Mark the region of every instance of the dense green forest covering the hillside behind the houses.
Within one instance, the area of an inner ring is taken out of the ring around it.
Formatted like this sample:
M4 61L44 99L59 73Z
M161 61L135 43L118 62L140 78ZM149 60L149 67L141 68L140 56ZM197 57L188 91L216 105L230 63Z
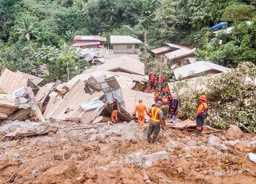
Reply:
M0 69L37 74L45 63L50 79L66 80L67 65L70 77L87 66L69 49L74 35L144 40L144 32L148 49L169 41L198 48L198 60L229 67L256 63L255 5L255 0L0 0ZM220 20L229 21L233 32L213 36L207 26Z

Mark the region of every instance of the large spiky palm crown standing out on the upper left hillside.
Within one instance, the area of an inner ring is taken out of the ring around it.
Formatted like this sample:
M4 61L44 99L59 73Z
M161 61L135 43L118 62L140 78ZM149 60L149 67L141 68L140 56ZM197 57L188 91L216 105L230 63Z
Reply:
M27 19L23 19L16 28L16 35L20 35L21 39L30 40L31 38L38 37L38 29L33 27L34 24L30 23Z

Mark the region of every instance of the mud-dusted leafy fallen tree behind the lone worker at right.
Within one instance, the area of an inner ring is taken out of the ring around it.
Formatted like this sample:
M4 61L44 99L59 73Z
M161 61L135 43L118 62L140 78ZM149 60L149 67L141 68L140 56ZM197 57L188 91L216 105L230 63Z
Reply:
M208 97L209 111L206 123L217 128L238 125L256 133L256 65L243 62L215 78L207 78L205 89L195 90L202 81L189 85L186 80L174 84L173 93L180 96L180 116L192 118L201 94Z

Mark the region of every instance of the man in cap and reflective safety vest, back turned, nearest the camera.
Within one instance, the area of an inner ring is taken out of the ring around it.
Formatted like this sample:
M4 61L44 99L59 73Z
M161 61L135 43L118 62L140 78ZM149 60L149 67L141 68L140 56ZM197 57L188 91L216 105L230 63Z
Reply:
M163 126L163 111L160 109L162 105L163 103L161 101L157 101L156 105L148 110L147 115L150 117L150 124L147 134L147 142L149 142L153 132L152 143L156 141L160 128L162 127L162 129L165 130L165 127Z

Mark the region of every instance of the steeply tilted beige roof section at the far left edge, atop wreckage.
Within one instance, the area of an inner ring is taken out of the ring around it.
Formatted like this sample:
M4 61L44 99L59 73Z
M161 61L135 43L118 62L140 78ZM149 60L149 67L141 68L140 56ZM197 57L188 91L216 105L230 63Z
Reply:
M0 76L0 94L10 94L20 87L27 86L27 79L22 74L5 69Z

